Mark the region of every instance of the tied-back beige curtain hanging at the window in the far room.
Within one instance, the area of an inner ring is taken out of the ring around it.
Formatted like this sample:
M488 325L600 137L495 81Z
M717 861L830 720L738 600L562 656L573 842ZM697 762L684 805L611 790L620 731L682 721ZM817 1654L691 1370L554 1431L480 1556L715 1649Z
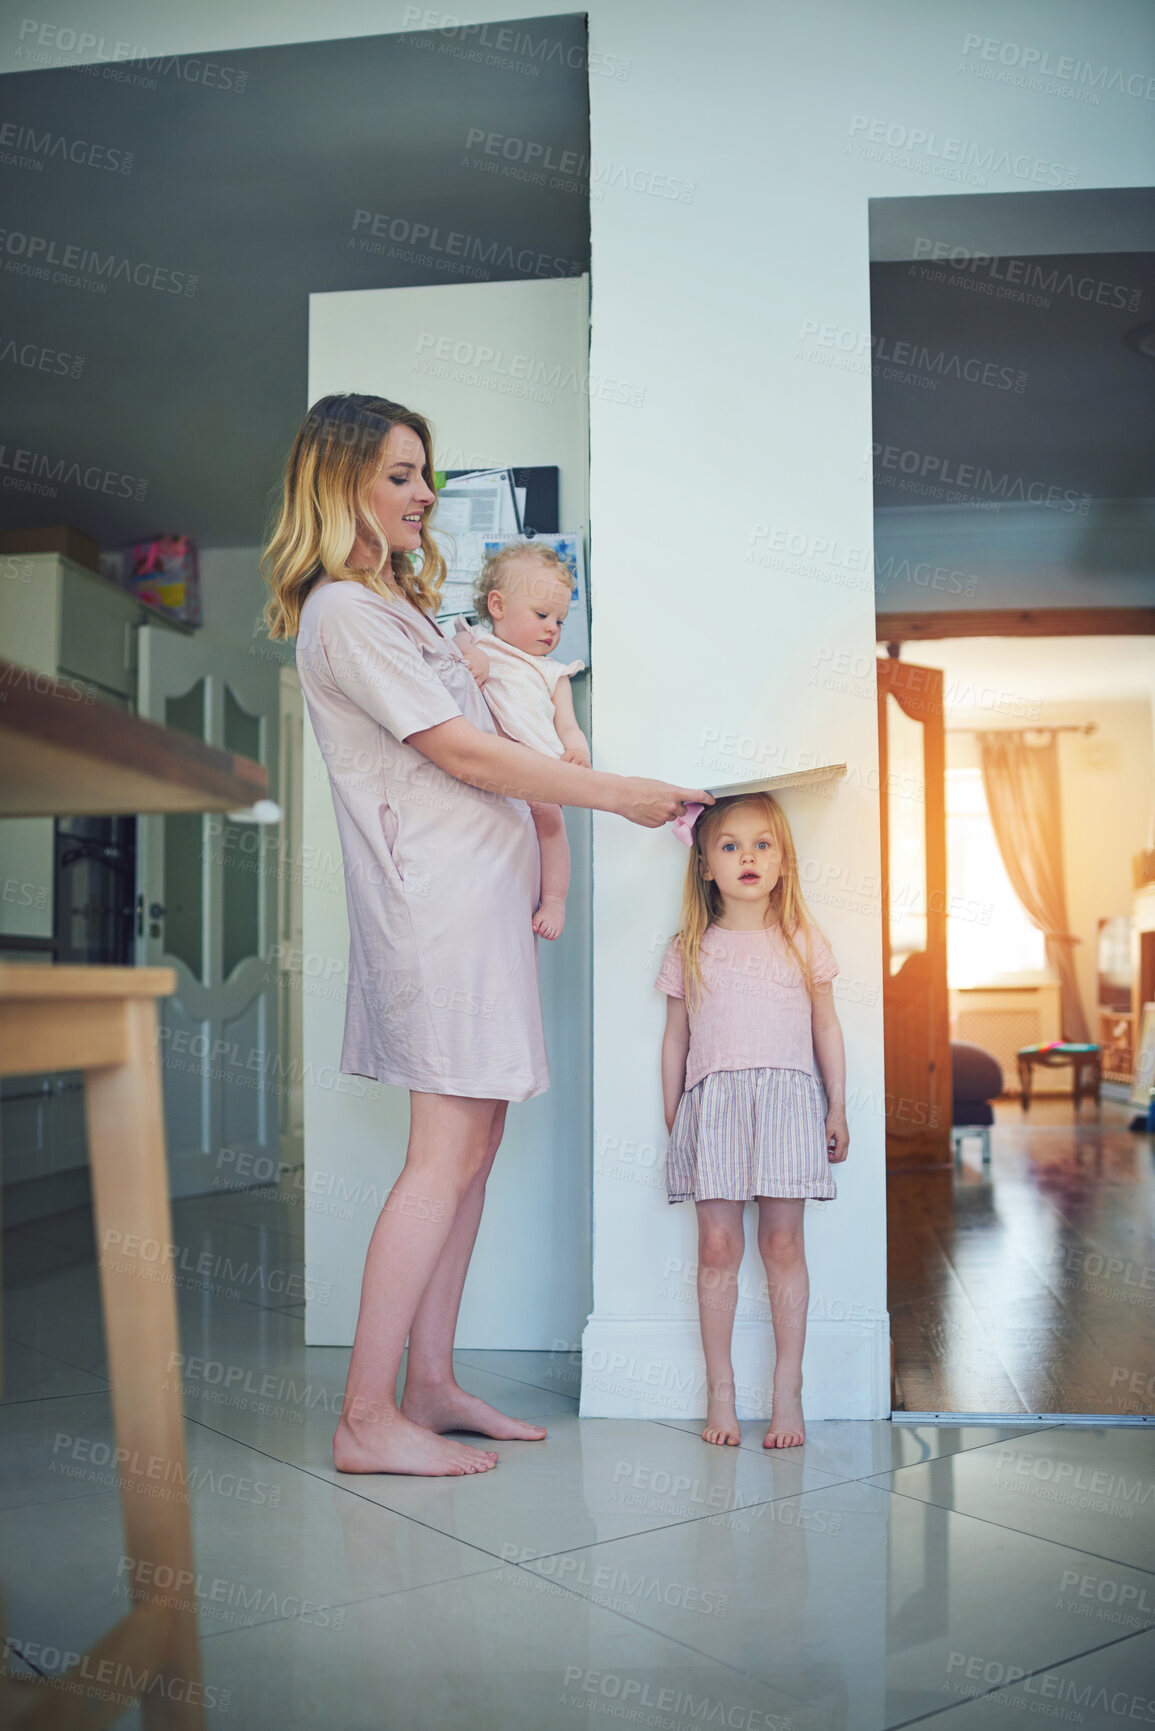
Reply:
M1020 732L978 734L982 784L994 838L1015 895L1046 940L1046 957L1058 975L1065 1040L1089 1040L1079 999L1074 947L1067 930L1063 836L1055 734L1029 746Z

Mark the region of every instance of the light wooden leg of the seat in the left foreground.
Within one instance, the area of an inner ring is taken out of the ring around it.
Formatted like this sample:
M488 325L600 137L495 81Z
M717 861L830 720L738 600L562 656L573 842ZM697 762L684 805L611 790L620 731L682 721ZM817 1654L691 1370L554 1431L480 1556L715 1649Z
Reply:
M121 1461L121 1580L137 1603L170 1615L168 1663L140 1702L147 1731L204 1731L156 1004L130 999L116 1013L128 1061L87 1071L85 1115Z

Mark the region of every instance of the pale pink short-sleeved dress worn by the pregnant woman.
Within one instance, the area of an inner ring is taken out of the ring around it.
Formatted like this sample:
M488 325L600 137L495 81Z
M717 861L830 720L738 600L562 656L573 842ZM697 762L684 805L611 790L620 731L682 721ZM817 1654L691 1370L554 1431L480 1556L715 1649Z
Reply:
M405 743L457 715L497 732L464 656L409 601L320 578L301 608L296 666L345 862L341 1071L426 1094L542 1094L530 808Z

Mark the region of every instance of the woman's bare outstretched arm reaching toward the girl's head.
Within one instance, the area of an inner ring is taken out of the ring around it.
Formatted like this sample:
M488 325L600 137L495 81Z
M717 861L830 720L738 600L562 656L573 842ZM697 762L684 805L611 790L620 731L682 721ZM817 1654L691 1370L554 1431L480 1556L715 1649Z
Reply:
M611 775L582 763L563 763L516 739L485 734L464 715L421 727L405 739L448 775L506 800L580 805L592 812L613 812L646 829L681 817L689 803L713 805L713 795L703 788L675 788L646 775Z

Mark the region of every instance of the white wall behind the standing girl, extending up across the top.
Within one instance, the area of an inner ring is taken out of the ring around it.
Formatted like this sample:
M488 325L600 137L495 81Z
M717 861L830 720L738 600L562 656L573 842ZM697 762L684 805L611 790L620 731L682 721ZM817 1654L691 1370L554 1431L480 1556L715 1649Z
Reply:
M476 0L468 10L474 23L537 19L540 36L551 7ZM843 1023L852 1087L878 1101L878 916L855 912L862 878L878 871L874 722L861 680L838 672L840 656L869 670L873 595L746 563L778 530L866 549L869 571L869 379L798 360L795 344L805 319L869 329L869 197L975 189L973 178L949 178L945 137L1008 152L1008 168L987 177L990 192L1039 189L1010 166L1020 152L1068 166L1079 187L1143 183L1150 104L1107 88L1091 106L978 76L999 73L997 47L985 61L971 38L1143 74L1155 61L1152 12L1145 0L1094 10L1086 0L1020 0L1013 10L999 0L933 9L925 0L731 0L708 12L668 0L587 0L585 10L599 192L592 369L644 393L634 409L590 403L594 746L606 767L679 779L703 774L698 756L713 734L750 739L753 755L786 767L807 755L850 762L835 801L805 812L798 803L798 829L802 852L835 874L817 912L843 980L864 999L874 994L871 1004L847 1002ZM100 28L161 54L305 42L319 29L435 28L445 17L397 0L331 0L324 19L282 0L242 10L201 0L165 16L149 0L106 0ZM87 0L61 0L54 19L92 29ZM16 29L0 47L7 68L26 64ZM887 159L885 145L857 154L864 130L855 118L933 135L939 156L933 145L907 158ZM667 189L684 182L687 197L663 197L653 177ZM693 1388L693 1310L670 1297L663 1272L693 1258L693 1220L667 1212L655 1186L618 1181L606 1167L615 1137L660 1141L661 1006L649 987L649 931L675 917L681 864L668 833L613 817L594 824L587 1412L668 1416L703 1404ZM861 1106L850 1130L840 1203L810 1222L821 1312L807 1354L812 1416L887 1411L881 1116ZM838 1321L847 1316L862 1321ZM755 1343L739 1376L750 1411L765 1380Z

